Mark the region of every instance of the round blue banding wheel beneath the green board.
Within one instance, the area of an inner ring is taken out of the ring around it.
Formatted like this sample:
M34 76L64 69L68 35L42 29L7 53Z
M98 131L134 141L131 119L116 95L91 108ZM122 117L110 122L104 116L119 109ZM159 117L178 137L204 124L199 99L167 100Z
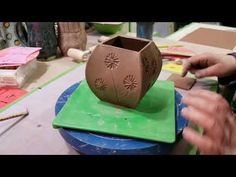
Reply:
M77 89L80 83L76 83L66 89L58 98L55 106L56 115L60 112L70 95ZM181 137L187 121L181 116L180 111L185 107L181 102L182 96L175 91L176 99L176 124L177 141ZM74 129L60 128L60 134L65 141L81 154L87 155L148 155L168 154L175 143L157 143L139 139L124 138L120 136L104 135Z

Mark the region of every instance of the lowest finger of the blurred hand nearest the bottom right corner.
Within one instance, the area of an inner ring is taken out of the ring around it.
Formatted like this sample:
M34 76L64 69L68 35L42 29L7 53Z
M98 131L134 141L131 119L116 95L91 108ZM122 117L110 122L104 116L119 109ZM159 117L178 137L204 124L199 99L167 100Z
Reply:
M209 137L202 136L191 128L183 130L183 138L196 146L204 154L220 154L220 147L217 146Z

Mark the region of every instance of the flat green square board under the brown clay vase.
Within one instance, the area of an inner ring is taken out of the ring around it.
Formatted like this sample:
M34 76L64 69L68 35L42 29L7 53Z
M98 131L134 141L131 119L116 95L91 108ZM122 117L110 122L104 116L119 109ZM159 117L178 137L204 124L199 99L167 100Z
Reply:
M130 109L99 100L83 80L54 119L53 127L173 143L174 84L157 80L136 109Z

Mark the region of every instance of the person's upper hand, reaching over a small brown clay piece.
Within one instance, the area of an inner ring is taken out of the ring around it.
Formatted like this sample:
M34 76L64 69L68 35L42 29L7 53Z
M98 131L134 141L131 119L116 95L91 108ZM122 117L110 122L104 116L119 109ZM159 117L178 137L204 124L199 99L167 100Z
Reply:
M195 74L197 78L230 76L236 73L236 60L231 55L204 53L184 62L182 76L185 76L188 71Z

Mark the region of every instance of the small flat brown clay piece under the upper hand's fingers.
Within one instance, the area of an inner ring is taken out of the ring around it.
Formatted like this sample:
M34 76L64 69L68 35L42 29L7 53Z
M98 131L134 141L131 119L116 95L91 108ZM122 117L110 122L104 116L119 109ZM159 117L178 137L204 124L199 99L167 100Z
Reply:
M191 89L193 85L196 83L196 79L189 78L189 77L181 77L178 74L171 74L167 80L173 81L175 84L175 87L184 89L184 90Z

